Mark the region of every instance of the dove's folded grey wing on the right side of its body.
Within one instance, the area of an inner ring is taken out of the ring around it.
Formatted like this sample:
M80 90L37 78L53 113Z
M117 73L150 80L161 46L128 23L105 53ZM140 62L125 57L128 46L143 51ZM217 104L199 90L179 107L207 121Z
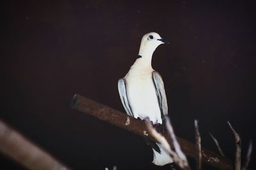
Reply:
M158 72L154 71L152 74L153 74L153 79L156 86L156 94L159 101L159 107L161 110L161 117L163 121L162 124L164 126L165 124L164 116L168 115L168 105L166 100L166 94L164 91L164 82L161 75Z

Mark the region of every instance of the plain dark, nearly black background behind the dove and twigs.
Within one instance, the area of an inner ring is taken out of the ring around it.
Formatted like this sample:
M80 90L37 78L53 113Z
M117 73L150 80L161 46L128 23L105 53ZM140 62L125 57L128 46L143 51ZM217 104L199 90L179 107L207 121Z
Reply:
M1 8L0 118L73 169L169 169L150 163L140 136L70 108L79 93L124 111L117 81L151 31L171 42L157 48L152 66L176 134L195 141L198 119L202 145L217 151L211 132L229 158L227 120L241 134L243 158L256 141L250 1L9 1ZM0 161L1 169L24 169L4 155Z

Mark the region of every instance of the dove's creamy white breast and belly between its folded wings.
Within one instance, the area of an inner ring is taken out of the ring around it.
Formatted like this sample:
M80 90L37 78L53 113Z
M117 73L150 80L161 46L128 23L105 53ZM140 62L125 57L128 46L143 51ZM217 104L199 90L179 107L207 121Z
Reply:
M159 101L152 79L152 71L130 70L125 76L127 98L135 118L149 118L153 123L162 123Z

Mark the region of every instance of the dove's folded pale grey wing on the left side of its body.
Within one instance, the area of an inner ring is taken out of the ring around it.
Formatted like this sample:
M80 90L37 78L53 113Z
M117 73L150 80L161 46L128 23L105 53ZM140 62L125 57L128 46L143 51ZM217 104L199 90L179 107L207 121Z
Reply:
M122 100L122 104L124 105L124 109L125 109L126 113L129 116L133 116L132 109L129 105L129 101L128 101L128 98L127 98L126 87L125 87L125 79L119 79L118 80L118 91L119 91L119 95L120 95L120 98Z

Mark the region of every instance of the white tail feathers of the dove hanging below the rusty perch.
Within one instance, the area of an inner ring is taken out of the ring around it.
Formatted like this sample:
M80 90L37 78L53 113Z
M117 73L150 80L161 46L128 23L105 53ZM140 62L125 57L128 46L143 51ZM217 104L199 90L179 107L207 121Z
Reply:
M172 158L164 149L162 148L161 144L156 143L157 146L160 149L160 153L158 153L156 150L154 151L154 160L152 161L153 164L156 166L164 166L166 164L171 164L173 162Z

